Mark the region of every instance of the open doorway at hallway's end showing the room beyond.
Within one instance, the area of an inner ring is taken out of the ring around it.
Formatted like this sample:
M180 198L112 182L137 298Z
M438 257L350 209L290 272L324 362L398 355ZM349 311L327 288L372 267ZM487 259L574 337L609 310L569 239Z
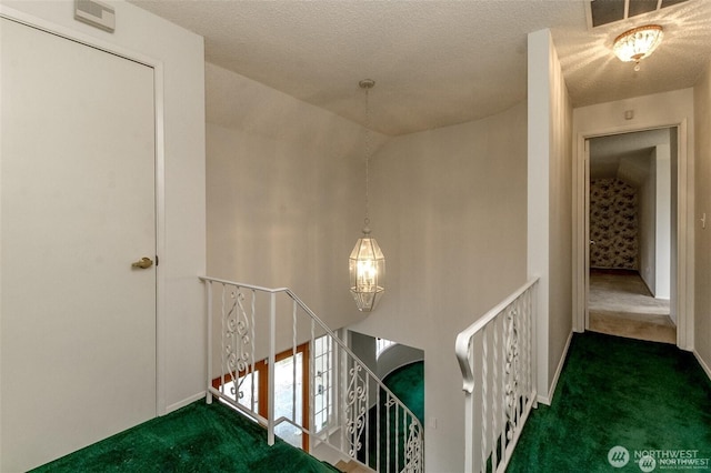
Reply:
M677 342L678 132L588 140L588 330Z

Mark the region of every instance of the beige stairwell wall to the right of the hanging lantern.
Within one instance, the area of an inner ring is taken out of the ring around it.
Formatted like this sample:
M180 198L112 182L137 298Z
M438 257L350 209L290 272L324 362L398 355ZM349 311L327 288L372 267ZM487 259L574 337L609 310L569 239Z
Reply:
M462 471L457 334L525 281L525 103L391 139L373 160L381 304L352 330L424 351L427 470Z

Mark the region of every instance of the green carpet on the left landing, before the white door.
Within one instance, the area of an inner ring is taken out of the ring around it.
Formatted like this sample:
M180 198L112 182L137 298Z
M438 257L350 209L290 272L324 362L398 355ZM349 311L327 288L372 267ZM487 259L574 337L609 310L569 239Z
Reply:
M34 472L337 472L230 407L194 402Z

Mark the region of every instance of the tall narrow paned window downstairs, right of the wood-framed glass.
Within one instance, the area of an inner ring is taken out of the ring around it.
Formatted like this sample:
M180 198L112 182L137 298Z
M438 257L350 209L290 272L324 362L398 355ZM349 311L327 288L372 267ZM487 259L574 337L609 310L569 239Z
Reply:
M323 335L313 341L313 430L328 427L333 417L333 340Z

